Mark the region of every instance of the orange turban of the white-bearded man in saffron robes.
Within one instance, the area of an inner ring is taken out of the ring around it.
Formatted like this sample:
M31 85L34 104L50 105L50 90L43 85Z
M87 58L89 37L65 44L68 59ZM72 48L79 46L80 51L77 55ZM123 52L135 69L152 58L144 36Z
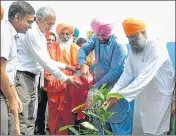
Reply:
M56 33L59 35L61 31L63 31L64 29L67 29L71 35L73 35L74 33L74 27L73 26L70 26L70 25L67 25L67 24L59 24L57 27L56 27Z

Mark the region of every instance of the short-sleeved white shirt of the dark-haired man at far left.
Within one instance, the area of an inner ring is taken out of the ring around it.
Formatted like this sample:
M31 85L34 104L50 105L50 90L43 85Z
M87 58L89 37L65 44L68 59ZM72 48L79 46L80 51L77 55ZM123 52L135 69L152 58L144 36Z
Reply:
M7 59L6 72L9 84L15 84L17 49L17 32L9 21L1 22L1 57Z

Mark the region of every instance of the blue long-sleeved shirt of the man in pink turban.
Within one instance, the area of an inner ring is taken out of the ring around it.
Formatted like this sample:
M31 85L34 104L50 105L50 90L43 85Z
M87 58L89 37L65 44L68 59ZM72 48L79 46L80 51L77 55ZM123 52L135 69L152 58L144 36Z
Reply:
M100 43L96 35L80 48L78 52L78 63L86 63L86 56L95 51L95 77L96 87L107 83L107 87L113 86L124 70L124 62L127 57L127 47L118 42L117 37L112 35L106 44Z

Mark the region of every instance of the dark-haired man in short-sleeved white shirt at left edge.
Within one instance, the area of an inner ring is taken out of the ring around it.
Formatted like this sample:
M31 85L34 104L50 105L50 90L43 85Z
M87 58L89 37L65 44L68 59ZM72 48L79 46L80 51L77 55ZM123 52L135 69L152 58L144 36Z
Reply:
M31 27L34 14L35 11L29 3L25 1L13 2L9 7L8 21L1 23L0 135L8 135L7 101L10 112L14 114L15 119L18 118L17 113L22 110L22 104L16 93L14 82L17 64L16 39L18 37L17 33L26 33L28 28ZM15 120L17 128L19 128L18 121ZM20 134L19 130L15 131L16 134Z

